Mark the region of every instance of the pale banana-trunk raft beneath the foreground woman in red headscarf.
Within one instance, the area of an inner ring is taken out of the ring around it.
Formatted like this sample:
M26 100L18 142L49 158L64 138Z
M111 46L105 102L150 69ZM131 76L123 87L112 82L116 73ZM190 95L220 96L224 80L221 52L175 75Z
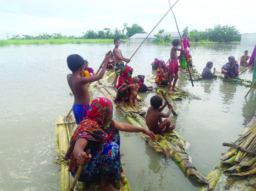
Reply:
M71 183L73 182L73 177L68 172L69 164L64 160L65 152L69 147L70 138L73 135L73 132L76 128L75 118L73 115L70 115L68 119L64 116L60 116L55 120L54 127L54 144L56 148L56 153L58 156L57 164L60 165L60 190L66 191L69 190ZM122 167L123 167L122 162ZM99 190L100 182L92 182L90 184L77 182L75 190L87 190L87 191L96 191ZM115 180L112 182L112 186L121 191L129 191L130 187L127 183L125 172L121 174L121 180Z

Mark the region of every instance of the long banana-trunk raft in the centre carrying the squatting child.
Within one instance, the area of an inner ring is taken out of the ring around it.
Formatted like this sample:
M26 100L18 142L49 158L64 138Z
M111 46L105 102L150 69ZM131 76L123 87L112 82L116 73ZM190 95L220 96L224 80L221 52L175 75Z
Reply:
M113 101L115 99L116 92L113 90L112 85L96 85L96 88L109 100ZM148 105L145 101L140 99L139 96L137 99L137 106L131 107L129 103L120 106L119 103L115 103L114 101L113 105L119 108L120 112L132 125L140 126L148 130L145 119ZM203 184L208 183L201 173L197 171L196 167L192 165L188 154L185 152L186 142L176 131L172 131L172 134L166 133L165 137L156 135L157 141L155 142L153 142L149 136L144 135L141 132L140 135L149 146L155 149L156 152L164 154L168 158L172 158L189 178Z

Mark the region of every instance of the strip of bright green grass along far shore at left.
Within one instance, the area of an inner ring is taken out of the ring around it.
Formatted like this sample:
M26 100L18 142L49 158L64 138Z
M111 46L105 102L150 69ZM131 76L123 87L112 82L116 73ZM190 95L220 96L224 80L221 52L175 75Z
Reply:
M121 39L127 42L128 39ZM85 44L85 43L114 43L113 39L26 39L0 40L0 45L9 44Z

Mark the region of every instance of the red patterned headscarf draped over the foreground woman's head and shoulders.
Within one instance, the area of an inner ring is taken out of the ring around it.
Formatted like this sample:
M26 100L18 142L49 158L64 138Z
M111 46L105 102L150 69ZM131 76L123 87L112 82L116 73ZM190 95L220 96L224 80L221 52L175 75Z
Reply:
M75 142L79 138L87 138L87 140L96 141L99 144L108 142L114 130L112 118L113 106L109 99L97 97L92 100L91 107L87 112L87 118L80 122L71 137L70 147L66 152L65 159L68 160L70 157L74 157Z

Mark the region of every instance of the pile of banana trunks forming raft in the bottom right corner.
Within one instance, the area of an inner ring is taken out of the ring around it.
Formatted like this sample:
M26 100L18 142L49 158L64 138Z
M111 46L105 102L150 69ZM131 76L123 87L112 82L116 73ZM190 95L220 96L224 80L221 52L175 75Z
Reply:
M234 144L256 152L256 113ZM206 178L209 185L200 190L256 190L256 157L230 147Z

